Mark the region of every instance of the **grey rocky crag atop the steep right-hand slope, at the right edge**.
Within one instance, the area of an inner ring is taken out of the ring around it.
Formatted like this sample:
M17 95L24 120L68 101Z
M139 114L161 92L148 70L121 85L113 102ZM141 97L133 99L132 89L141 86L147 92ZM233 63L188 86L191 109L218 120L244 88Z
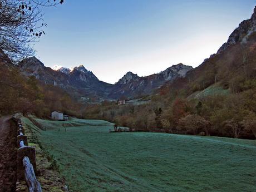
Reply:
M222 53L227 50L229 46L235 45L238 42L246 43L248 37L256 31L256 6L254 7L254 12L250 19L242 21L238 28L236 28L225 42L218 50L216 54Z

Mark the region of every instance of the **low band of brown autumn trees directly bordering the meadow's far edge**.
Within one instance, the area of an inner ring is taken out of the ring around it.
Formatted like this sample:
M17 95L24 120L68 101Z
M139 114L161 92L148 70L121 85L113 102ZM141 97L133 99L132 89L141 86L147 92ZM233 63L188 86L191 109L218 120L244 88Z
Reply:
M256 80L255 80L256 82ZM117 106L115 102L87 106L86 119L104 119L119 126L165 132L254 139L256 135L256 87L239 94L213 95L203 99L170 99L155 96L150 104Z

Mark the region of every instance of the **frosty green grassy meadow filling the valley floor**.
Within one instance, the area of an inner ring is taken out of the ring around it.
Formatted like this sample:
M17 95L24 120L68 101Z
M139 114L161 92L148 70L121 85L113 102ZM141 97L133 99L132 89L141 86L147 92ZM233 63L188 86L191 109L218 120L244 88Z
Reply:
M23 118L72 191L256 191L254 140L109 133L107 121L35 120L46 131Z

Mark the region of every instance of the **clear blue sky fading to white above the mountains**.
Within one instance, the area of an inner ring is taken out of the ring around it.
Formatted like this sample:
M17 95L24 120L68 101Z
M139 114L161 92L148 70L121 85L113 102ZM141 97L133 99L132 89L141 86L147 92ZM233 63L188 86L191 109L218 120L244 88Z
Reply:
M34 46L46 66L83 64L115 83L177 63L196 67L215 53L255 0L65 0L44 8L46 36Z

